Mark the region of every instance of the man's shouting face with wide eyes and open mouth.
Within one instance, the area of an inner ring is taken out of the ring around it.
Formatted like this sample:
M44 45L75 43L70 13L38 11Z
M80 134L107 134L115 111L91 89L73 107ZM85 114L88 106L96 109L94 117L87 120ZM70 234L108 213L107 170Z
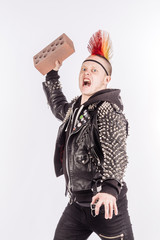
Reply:
M91 55L87 59L96 60L106 67L105 59L101 57ZM109 80L110 76L107 76L102 66L98 63L87 61L82 64L79 73L79 88L82 95L90 97L95 92L106 89Z

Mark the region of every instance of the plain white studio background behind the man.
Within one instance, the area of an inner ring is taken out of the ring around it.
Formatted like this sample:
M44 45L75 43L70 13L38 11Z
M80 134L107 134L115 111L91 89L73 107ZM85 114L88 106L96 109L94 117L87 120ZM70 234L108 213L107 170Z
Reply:
M76 52L59 71L70 101L80 95L80 66L99 29L113 43L108 87L121 89L130 124L125 181L135 239L160 239L160 1L6 0L0 26L0 239L52 240L68 201L53 169L61 122L47 105L33 56L62 33L72 39Z

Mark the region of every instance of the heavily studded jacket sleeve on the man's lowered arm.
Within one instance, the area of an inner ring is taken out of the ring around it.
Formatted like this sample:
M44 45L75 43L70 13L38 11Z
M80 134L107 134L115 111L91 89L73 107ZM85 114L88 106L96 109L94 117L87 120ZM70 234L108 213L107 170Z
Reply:
M126 138L128 121L116 104L103 102L97 114L102 163L102 190L118 198L128 164Z

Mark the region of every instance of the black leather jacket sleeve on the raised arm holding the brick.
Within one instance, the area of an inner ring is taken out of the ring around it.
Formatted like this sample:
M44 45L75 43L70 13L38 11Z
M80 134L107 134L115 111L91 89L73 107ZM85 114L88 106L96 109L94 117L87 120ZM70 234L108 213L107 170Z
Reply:
M71 104L62 92L59 78L58 71L51 70L47 73L46 81L42 82L42 85L51 111L56 118L63 121Z

